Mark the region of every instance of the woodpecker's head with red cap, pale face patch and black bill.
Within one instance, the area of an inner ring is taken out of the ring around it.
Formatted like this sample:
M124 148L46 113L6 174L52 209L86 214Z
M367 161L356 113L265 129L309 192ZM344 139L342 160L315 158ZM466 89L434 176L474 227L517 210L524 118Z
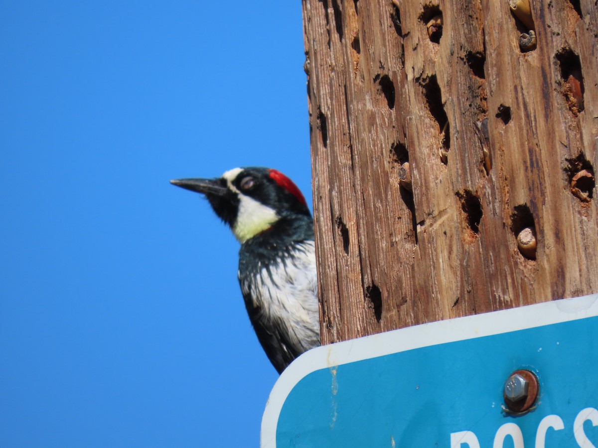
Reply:
M216 179L176 179L173 185L202 193L241 243L280 220L309 217L303 194L280 171L233 168Z

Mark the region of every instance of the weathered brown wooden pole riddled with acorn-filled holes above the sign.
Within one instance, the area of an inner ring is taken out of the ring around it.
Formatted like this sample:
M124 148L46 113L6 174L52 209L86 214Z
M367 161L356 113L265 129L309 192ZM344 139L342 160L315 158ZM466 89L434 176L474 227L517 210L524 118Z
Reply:
M598 291L598 6L511 4L303 0L322 343Z

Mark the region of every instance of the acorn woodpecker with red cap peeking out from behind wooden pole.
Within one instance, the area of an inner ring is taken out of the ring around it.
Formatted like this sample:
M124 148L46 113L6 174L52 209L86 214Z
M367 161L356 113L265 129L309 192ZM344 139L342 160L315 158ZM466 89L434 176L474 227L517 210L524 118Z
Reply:
M277 372L320 345L313 219L297 186L279 171L260 167L170 183L204 194L241 243L245 307Z

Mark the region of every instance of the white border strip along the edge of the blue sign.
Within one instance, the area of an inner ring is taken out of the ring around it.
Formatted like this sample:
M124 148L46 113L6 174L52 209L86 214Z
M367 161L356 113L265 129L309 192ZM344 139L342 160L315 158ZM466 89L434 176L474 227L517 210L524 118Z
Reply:
M432 322L313 348L293 361L274 384L262 418L260 446L276 447L276 426L286 397L301 379L316 370L441 343L500 335L597 315L598 294L591 294Z

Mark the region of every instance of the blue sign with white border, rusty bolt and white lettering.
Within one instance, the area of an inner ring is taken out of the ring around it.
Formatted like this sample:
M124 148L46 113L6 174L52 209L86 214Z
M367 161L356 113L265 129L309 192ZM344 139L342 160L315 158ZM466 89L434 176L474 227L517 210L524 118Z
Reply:
M261 447L598 447L598 294L312 349Z

